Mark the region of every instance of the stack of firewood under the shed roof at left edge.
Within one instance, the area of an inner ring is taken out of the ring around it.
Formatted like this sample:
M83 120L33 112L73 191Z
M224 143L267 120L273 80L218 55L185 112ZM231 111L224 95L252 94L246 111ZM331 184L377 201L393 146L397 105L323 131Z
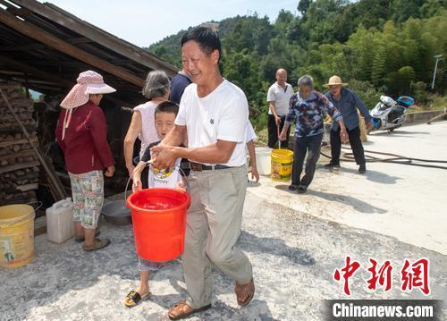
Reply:
M20 85L0 82L15 114L38 145L37 124L32 119L33 101ZM0 96L0 205L36 201L38 189L38 156Z

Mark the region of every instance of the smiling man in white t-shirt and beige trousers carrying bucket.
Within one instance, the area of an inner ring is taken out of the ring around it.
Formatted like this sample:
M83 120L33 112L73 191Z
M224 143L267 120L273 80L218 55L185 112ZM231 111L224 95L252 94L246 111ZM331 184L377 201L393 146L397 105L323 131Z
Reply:
M175 159L191 162L191 205L186 217L183 273L187 300L172 320L211 308L211 263L235 281L240 306L252 300L255 285L249 258L235 249L247 190L245 143L249 108L241 89L219 72L221 43L214 31L198 27L181 38L183 68L193 83L183 96L173 130L154 148L156 168ZM179 148L188 135L188 148Z

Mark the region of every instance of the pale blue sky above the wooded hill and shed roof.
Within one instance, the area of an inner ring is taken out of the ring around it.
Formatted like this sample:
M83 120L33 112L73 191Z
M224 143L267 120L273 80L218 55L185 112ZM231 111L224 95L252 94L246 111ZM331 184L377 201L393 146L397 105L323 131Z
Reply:
M39 0L137 46L149 46L202 22L257 13L274 21L281 9L296 14L299 0Z

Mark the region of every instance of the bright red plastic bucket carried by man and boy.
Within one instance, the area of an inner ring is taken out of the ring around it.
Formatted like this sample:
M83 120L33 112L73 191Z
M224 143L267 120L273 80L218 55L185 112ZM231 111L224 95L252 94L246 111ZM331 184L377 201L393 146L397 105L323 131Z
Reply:
M183 253L190 195L181 190L151 188L127 198L139 257L169 261Z

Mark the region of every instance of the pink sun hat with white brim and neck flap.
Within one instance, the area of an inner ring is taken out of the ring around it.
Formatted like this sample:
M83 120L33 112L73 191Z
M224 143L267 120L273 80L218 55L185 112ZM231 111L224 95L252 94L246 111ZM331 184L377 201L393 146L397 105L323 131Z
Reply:
M61 106L64 109L70 110L86 104L89 101L90 94L110 94L116 91L116 89L106 85L103 76L97 72L80 72L76 81L78 83L63 98Z

